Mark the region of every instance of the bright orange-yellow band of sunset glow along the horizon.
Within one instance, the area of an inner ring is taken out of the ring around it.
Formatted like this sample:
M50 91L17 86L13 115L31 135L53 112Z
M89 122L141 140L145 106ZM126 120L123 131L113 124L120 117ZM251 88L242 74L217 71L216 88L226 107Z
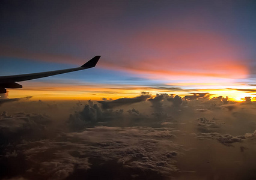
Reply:
M256 94L250 92L236 91L235 89L197 89L197 91L192 90L182 90L182 91L169 91L168 89L157 89L149 87L107 87L107 88L90 88L90 86L43 86L43 87L33 87L25 89L8 89L8 98L19 98L32 96L31 100L102 100L102 98L111 98L116 100L123 97L136 97L141 94L142 91L149 92L151 95L156 94L175 94L184 97L184 95L190 95L190 92L205 93L210 94L210 98L213 97L226 97L230 101L243 101L245 97L251 97L252 101L256 100Z

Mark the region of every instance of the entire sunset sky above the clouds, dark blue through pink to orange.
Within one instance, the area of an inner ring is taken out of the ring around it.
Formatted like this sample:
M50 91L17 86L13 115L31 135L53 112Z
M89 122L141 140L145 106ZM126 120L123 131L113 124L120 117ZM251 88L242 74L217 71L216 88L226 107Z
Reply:
M255 1L1 1L0 76L96 68L21 82L9 97L93 99L209 92L255 97Z

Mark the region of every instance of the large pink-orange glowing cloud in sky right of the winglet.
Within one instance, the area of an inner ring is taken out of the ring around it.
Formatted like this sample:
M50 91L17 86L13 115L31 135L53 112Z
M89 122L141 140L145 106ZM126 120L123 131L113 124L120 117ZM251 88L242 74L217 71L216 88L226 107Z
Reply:
M126 52L108 68L161 76L245 78L248 68L239 53L242 46L212 32L148 29L124 40ZM136 57L136 58L134 58Z

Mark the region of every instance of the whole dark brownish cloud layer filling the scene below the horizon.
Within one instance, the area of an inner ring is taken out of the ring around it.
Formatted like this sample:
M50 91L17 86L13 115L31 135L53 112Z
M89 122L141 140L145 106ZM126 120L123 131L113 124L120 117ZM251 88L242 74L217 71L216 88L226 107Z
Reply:
M109 100L107 109L94 101L11 102L1 107L0 177L210 179L236 169L233 179L253 179L255 103L222 99L144 93L115 106Z

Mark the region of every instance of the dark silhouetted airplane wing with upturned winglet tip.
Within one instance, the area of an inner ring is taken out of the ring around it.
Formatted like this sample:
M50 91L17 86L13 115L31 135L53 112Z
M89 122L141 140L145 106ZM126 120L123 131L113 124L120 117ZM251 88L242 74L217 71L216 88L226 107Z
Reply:
M38 79L41 77L54 76L56 74L69 73L73 71L85 70L88 68L95 67L97 62L99 61L100 56L95 56L90 61L86 62L81 67L70 68L65 70L57 70L57 71L47 71L42 73L31 73L31 74L19 74L13 76L0 76L0 93L5 93L5 88L22 88L22 85L19 85L16 82L21 82L25 80Z

